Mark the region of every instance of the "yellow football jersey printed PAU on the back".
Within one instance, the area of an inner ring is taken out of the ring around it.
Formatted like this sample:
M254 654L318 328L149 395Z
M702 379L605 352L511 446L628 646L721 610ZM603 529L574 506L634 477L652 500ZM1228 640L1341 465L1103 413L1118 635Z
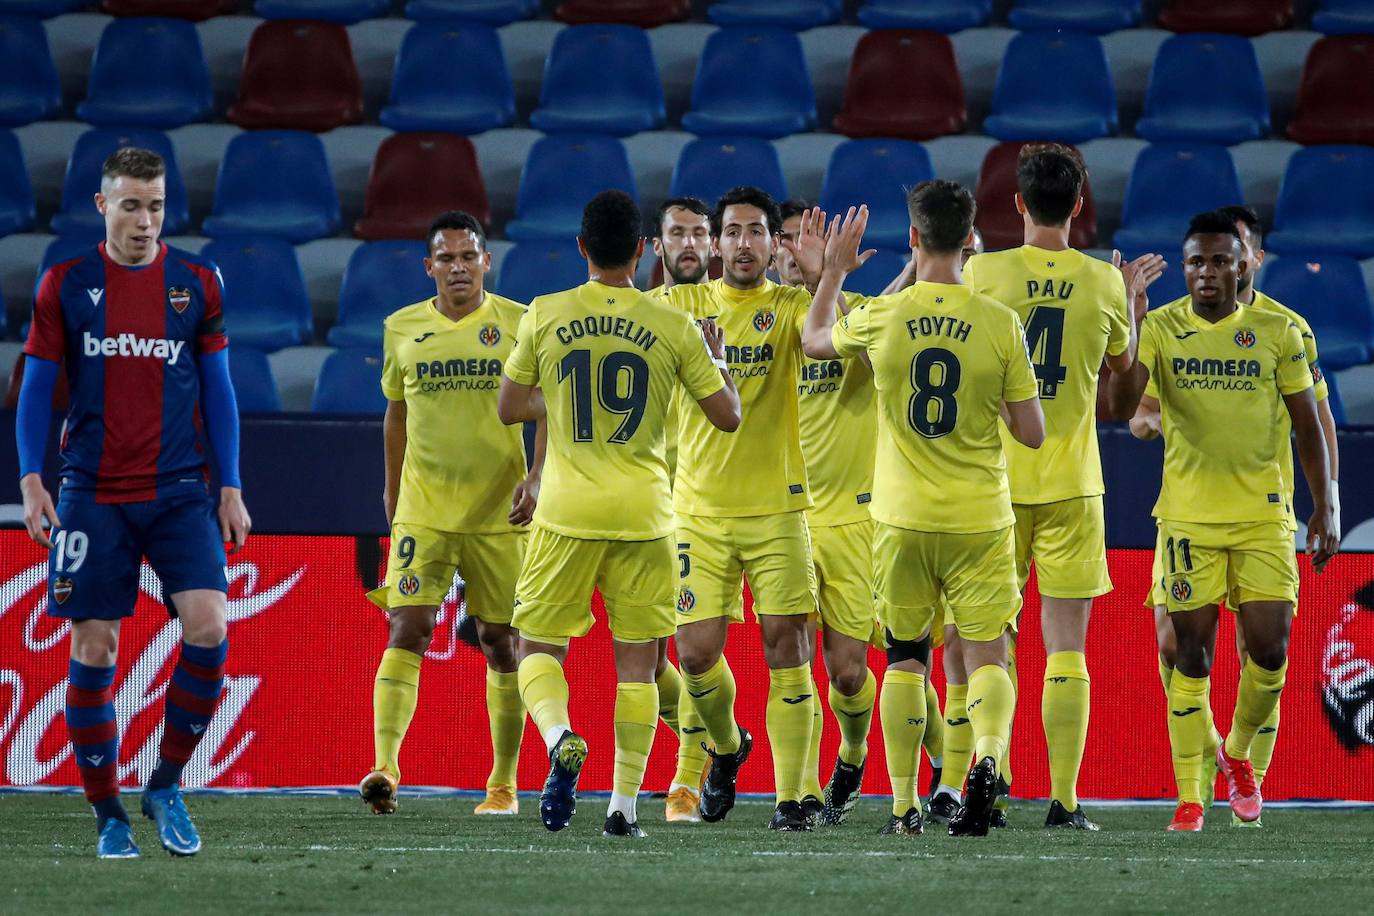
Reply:
M963 282L1021 317L1040 383L1044 445L1028 449L1002 427L1011 501L1101 496L1098 371L1103 353L1116 356L1131 345L1121 271L1073 249L1025 244L976 254Z

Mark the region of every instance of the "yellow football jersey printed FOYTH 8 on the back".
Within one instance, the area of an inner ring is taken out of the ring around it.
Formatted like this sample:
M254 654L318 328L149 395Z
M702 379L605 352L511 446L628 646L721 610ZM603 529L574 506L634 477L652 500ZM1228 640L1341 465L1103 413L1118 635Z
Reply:
M853 309L831 341L872 363L872 518L959 534L1011 526L1000 405L1036 396L1015 312L966 286L922 282Z

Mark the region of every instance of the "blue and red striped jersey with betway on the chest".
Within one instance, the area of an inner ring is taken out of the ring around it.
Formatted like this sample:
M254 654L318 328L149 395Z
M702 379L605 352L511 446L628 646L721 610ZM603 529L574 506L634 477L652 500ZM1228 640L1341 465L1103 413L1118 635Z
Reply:
M223 295L214 264L165 243L136 268L102 242L48 269L23 352L66 364L65 492L135 503L203 486L196 357L228 346Z

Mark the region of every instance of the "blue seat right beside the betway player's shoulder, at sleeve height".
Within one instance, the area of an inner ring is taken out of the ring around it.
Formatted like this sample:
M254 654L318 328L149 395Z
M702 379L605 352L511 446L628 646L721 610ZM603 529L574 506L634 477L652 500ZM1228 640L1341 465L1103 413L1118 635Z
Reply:
M224 324L235 345L271 353L311 342L311 298L290 242L268 235L216 239L201 254L224 277Z

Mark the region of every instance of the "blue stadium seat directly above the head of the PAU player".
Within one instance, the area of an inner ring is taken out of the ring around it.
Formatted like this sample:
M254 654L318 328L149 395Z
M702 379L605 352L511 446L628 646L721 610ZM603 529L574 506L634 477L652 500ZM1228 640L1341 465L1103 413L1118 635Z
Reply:
M1046 92L1044 74L1055 77ZM1096 36L1022 32L1007 45L984 133L999 140L1083 143L1117 132L1116 89Z

